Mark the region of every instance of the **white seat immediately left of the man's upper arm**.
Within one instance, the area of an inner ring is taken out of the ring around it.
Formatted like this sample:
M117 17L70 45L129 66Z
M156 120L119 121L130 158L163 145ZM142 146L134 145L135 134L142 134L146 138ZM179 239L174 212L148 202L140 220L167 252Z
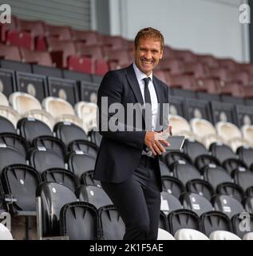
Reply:
M77 117L81 118L86 133L97 127L97 104L93 102L78 102L74 109Z

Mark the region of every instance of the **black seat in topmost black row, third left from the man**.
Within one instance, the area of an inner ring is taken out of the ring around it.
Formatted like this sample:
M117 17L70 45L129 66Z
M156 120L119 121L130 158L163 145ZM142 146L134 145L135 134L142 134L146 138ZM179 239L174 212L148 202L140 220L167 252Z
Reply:
M32 145L34 138L42 135L53 136L53 132L45 122L39 121L35 118L22 118L18 121L17 128L19 134L26 138L26 142Z

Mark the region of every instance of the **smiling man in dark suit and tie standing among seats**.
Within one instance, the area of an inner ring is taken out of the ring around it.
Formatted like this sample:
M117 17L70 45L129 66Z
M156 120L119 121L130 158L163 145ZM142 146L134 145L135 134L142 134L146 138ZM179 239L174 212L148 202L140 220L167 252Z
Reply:
M121 214L126 240L157 238L162 190L158 155L169 146L157 135L168 128L168 86L152 70L163 48L160 31L140 30L135 38L135 62L105 74L98 90L97 121L103 137L94 178L101 181ZM133 105L135 118L130 122L129 106ZM112 114L110 106L117 113Z

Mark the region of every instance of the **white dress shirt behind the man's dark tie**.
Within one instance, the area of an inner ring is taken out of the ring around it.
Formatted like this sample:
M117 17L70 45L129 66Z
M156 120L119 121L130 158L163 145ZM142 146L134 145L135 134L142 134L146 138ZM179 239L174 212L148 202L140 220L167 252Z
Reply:
M140 86L140 91L141 95L143 98L143 101L145 102L144 98L144 80L143 78L147 78L147 75L144 74L139 70L139 68L136 66L135 63L133 63L133 70L135 71L136 78L138 80L139 86ZM151 98L151 104L152 104L152 130L156 130L156 120L157 120L157 114L158 114L158 102L157 102L157 97L156 97L156 90L155 86L152 82L152 72L148 76L151 78L151 80L148 82L148 90Z

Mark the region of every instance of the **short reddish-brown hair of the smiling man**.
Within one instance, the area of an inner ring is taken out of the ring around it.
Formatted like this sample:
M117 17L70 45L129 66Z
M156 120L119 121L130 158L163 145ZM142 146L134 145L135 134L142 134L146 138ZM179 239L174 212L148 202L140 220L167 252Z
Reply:
M140 30L134 39L135 49L137 49L140 38L153 38L157 41L160 41L160 48L161 50L164 49L164 36L160 33L159 30L153 29L152 27L146 27Z

